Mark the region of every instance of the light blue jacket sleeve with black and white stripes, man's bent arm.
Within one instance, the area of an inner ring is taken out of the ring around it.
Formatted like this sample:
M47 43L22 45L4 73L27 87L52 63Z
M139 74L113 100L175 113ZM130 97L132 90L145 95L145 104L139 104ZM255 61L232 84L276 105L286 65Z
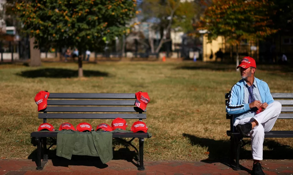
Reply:
M238 104L238 99L240 99L240 97L238 97L237 85L235 84L231 88L231 92L228 97L226 113L228 113L229 115L233 115L233 114L244 113L250 110L249 104L242 104L242 103Z

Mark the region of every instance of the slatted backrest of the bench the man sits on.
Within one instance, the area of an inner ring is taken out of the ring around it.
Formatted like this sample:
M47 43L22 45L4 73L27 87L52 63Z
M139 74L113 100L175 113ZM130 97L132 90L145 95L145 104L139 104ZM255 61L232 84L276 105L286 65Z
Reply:
M225 98L228 99L229 93L225 93ZM275 101L279 101L282 104L281 114L278 119L292 119L293 118L293 93L271 93ZM225 100L227 105L228 100ZM226 119L230 119L230 129L234 131L233 127L233 115L226 114Z

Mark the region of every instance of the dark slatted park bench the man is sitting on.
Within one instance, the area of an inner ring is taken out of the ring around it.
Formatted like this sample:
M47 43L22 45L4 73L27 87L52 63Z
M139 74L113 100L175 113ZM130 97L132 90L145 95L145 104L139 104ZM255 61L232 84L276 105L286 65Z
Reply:
M228 99L229 93L225 93L225 98ZM275 101L279 101L282 104L281 114L278 119L293 119L293 93L271 93ZM227 105L227 101L225 104ZM285 112L285 113L284 113ZM231 143L231 161L234 161L236 166L234 170L240 170L239 168L239 151L240 147L245 146L247 143L243 141L243 136L236 130L236 127L233 126L233 115L226 114L226 119L230 119L230 130L227 131L227 135L230 136ZM249 138L245 136L245 138ZM265 138L292 138L293 131L270 131L265 133Z

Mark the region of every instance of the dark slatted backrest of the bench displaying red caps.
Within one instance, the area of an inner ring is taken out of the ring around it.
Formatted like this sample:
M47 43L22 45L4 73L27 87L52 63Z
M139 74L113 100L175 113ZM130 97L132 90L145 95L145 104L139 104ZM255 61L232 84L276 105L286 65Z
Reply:
M49 118L66 119L146 119L146 109L136 107L135 94L122 93L50 93L47 108L38 113Z

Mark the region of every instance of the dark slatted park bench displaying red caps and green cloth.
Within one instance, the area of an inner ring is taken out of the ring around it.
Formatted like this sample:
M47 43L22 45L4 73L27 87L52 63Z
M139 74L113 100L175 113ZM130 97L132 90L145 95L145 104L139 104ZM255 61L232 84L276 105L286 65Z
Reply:
M146 110L136 107L135 94L122 93L50 93L48 106L43 112L38 113L38 118L46 123L48 119L146 119ZM54 113L53 113L54 112ZM97 113L99 112L99 113ZM59 126L58 126L59 127ZM95 129L93 127L93 129ZM132 146L138 156L138 170L145 170L143 166L143 143L144 138L148 138L148 133L121 132L112 133L113 138L120 139ZM57 132L32 132L32 139L37 143L37 168L43 169L48 162L47 137L57 137ZM129 141L121 138L131 138ZM135 138L139 141L139 151L131 144ZM43 161L41 162L41 155Z

